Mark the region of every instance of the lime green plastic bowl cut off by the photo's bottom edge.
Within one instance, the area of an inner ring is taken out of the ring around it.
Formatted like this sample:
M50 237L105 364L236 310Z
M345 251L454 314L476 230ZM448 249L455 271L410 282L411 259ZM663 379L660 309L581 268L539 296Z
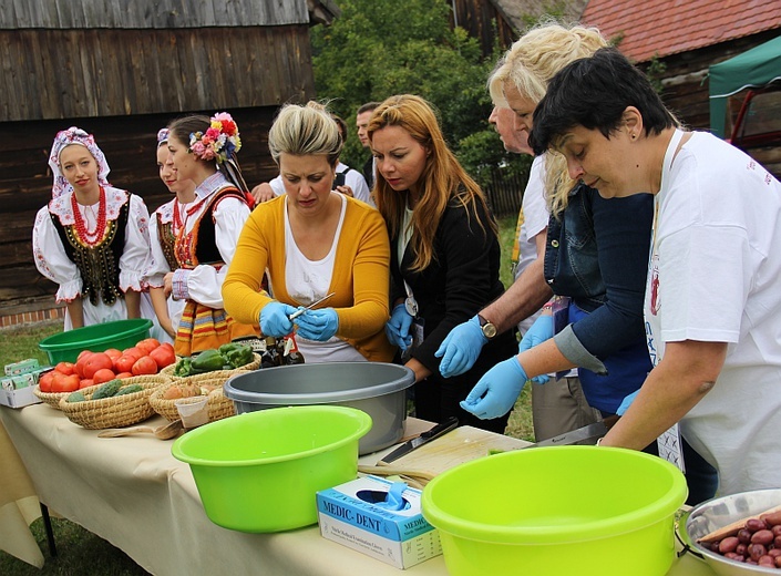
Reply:
M675 559L684 474L623 449L552 446L482 457L423 490L452 576L661 576Z

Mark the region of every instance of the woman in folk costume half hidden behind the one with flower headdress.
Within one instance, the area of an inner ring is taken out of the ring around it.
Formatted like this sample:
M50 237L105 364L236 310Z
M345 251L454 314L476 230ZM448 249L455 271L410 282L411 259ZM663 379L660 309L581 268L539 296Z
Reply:
M174 245L185 220L185 210L195 199L195 183L192 179L177 177L174 161L168 152L168 128L161 128L157 132L157 171L160 179L174 194L174 198L152 214L150 220L152 258L144 272L144 281L148 284L157 320L165 331L165 337L161 339L173 343L185 300L174 300L171 294L165 292L165 275L178 268Z

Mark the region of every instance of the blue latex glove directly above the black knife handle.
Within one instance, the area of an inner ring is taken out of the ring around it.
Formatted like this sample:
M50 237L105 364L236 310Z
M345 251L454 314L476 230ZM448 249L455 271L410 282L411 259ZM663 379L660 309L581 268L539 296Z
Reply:
M483 374L461 408L483 420L503 416L515 405L526 380L516 357L504 360Z

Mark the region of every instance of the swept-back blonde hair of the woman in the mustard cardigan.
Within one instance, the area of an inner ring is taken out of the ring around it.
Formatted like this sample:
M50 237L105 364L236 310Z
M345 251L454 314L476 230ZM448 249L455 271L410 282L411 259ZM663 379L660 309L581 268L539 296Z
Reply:
M268 132L268 150L279 165L279 156L325 155L336 166L341 153L342 140L328 109L319 102L309 101L305 106L285 104Z

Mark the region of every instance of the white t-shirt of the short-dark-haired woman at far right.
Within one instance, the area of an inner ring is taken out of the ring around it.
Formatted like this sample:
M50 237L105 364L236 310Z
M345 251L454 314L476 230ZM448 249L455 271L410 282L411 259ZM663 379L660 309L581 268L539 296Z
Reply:
M711 134L693 133L671 167L670 151L646 289L651 360L665 342L727 342L716 385L681 432L719 471L719 494L779 487L781 184Z

